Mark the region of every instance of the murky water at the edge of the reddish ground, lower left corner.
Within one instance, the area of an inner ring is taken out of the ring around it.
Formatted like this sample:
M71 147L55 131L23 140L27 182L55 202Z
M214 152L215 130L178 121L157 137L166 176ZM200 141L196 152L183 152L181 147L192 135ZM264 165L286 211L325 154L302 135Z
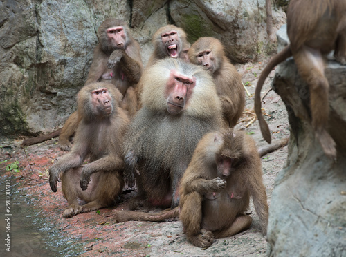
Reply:
M0 256L76 256L84 252L82 243L63 237L33 208L25 190L11 184L9 191L6 181L13 180L0 178Z

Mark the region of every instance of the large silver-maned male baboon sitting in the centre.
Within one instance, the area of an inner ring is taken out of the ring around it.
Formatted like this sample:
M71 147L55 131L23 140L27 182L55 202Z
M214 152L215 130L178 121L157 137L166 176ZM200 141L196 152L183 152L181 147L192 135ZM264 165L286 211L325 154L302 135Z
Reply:
M201 137L221 126L221 104L203 68L167 58L143 74L143 107L125 135L138 196L131 209L175 207L179 181Z

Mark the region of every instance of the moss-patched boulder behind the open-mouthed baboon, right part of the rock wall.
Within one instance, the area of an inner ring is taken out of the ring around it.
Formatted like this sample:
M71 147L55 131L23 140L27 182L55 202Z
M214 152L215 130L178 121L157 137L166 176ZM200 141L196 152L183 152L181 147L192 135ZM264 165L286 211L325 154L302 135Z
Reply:
M216 37L232 61L244 63L276 52L276 45L266 35L265 2L178 0L170 3L170 15L188 33L189 41ZM282 10L274 8L272 15L274 28L286 22Z

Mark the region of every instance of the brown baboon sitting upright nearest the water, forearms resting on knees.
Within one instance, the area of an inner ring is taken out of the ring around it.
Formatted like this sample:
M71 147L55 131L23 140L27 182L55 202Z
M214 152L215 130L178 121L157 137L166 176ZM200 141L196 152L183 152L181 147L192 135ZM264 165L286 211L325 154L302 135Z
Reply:
M122 140L129 117L120 108L121 93L110 83L91 83L78 93L81 118L70 153L49 169L51 189L62 192L69 207L62 216L111 206L124 187ZM89 158L88 164L83 164ZM78 198L87 202L80 206Z

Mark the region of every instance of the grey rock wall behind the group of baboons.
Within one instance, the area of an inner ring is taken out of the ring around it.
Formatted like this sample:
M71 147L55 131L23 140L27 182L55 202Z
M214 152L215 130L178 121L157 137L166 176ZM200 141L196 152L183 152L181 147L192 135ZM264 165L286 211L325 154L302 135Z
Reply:
M280 28L286 15L273 9L273 25ZM107 17L129 23L145 64L153 33L168 23L183 28L190 43L202 36L221 39L234 63L260 61L276 51L266 35L265 0L1 0L0 14L0 136L6 137L64 124Z

